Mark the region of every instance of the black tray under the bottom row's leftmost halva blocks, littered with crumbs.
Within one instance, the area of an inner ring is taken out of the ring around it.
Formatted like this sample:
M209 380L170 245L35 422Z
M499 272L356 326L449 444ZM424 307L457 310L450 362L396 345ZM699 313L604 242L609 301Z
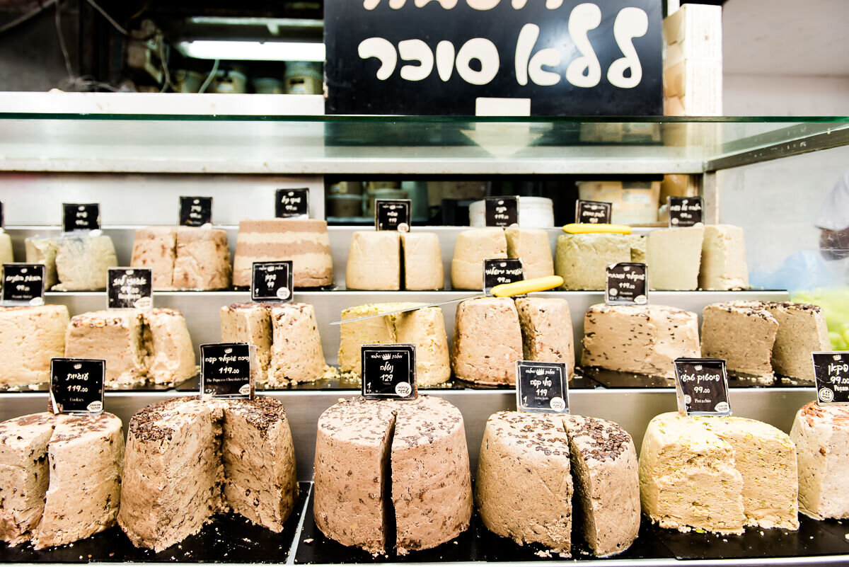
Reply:
M81 542L38 551L31 545L9 547L0 543L0 562L285 563L312 483L301 482L298 486L300 492L295 510L278 534L238 514L218 514L200 533L160 553L134 547L121 528L115 525Z

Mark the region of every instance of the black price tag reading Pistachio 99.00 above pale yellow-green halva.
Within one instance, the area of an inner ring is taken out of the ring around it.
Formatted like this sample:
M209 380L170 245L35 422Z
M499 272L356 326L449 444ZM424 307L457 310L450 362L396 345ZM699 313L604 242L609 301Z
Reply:
M728 376L721 358L677 358L675 390L685 415L731 415Z

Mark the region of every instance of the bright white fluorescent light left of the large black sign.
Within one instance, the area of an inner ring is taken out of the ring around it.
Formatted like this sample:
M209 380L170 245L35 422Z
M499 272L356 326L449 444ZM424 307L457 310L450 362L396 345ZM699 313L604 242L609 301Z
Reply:
M177 49L194 59L235 61L324 61L324 44L310 42L178 42Z

